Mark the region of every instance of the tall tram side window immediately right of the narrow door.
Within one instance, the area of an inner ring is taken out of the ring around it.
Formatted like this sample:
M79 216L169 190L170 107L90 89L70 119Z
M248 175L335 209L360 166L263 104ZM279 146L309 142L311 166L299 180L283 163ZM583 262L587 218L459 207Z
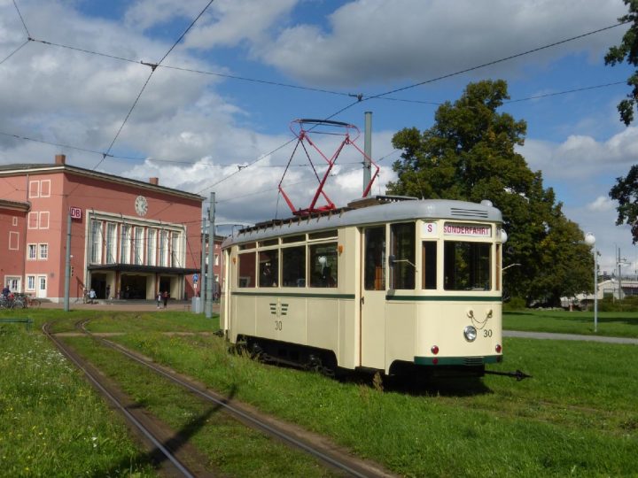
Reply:
M390 264L392 289L415 288L415 223L393 224L390 227L393 262Z

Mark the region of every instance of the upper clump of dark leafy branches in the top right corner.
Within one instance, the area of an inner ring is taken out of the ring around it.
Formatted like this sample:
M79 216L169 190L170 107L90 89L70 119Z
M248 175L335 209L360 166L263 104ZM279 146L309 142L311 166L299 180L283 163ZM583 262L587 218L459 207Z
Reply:
M618 46L612 46L605 55L605 65L615 66L623 61L637 69L627 79L627 85L632 88L631 93L618 104L620 120L626 126L634 121L634 106L638 100L638 0L623 0L629 6L629 12L619 18L621 23L631 23L631 27L623 35Z

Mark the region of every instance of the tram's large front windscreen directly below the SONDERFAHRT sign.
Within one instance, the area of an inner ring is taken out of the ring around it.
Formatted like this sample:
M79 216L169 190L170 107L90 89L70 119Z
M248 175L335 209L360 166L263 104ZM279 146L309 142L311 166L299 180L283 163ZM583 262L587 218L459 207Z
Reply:
M489 290L490 251L488 243L446 241L443 252L446 290Z

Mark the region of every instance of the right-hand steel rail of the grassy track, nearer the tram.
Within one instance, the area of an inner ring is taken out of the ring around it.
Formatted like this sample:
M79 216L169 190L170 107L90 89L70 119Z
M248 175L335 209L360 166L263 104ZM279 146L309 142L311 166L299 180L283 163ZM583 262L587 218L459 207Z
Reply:
M261 421L257 418L255 418L253 415L246 413L240 409L238 409L236 406L230 405L228 403L227 400L225 399L221 399L218 397L214 397L213 395L211 395L210 393L208 393L206 390L203 389L199 389L198 387L192 385L189 382L184 382L183 380L179 379L178 377L175 377L172 374L169 374L166 370L164 370L163 368L153 365L152 363L147 362L146 360L144 360L143 358L139 358L138 356L136 356L135 354L131 353L130 351L126 350L125 348L121 347L121 345L117 344L117 343L113 343L109 340L106 340L105 338L99 337L97 335L92 334L91 332L89 332L89 330L87 330L85 328L86 324L89 322L89 320L82 320L80 322L78 322L76 324L76 327L79 326L79 328L82 330L83 333L85 333L86 335L91 336L92 338L94 338L95 340L104 343L106 346L112 348L113 350L119 351L122 354L126 355L128 358L131 358L133 360L135 360L136 362L147 366L148 368L151 368L154 372L156 372L157 374L160 374L164 377L166 377L168 380L170 380L171 382L175 382L181 386L183 386L186 389L191 390L191 392L197 394L200 397L205 398L206 400L209 400L211 402L213 402L215 405L219 405L221 407L223 407L227 412L230 412L231 414L236 415L237 417L241 418L242 420L245 420L249 423L251 423L255 428L260 428L261 430L267 432L269 435L271 436L276 436L276 438L279 438L280 440L284 441L285 443L289 443L290 445L292 445L295 448L298 448L302 451L306 451L309 455L315 457L315 459L319 459L320 461L323 461L323 463L326 463L330 466L333 466L339 470L342 470L344 472L346 472L347 474L350 474L352 476L356 476L357 478L368 478L370 476L370 474L365 474L360 472L359 470L355 470L352 466L348 466L346 463L335 459L333 457L331 457L330 455L323 453L323 451L319 451L316 450L315 448L313 448L312 446L308 445L307 443L299 440L298 438L295 438L294 436L291 436L289 434L284 433L282 430L276 428L276 427L272 427L270 425L268 425L268 423L265 423L264 421Z

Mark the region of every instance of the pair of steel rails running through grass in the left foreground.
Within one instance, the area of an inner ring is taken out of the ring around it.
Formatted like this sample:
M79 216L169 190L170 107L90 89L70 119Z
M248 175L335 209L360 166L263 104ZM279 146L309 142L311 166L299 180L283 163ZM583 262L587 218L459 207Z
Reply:
M89 320L80 320L76 322L75 328L77 328L82 334L89 335L97 342L109 347L115 351L120 352L127 358L141 364L152 372L161 375L166 380L173 382L183 389L189 390L192 394L200 397L207 403L214 405L216 408L222 409L224 412L229 413L235 419L241 421L245 426L260 430L268 436L275 438L294 449L303 451L311 457L317 459L323 466L327 466L332 470L339 473L346 474L347 476L356 477L372 477L372 476L392 476L385 470L382 470L378 466L368 461L361 459L355 459L348 455L346 452L338 450L338 448L331 443L327 443L321 436L314 436L308 434L305 430L291 426L280 422L271 417L263 417L260 413L251 410L236 402L230 401L226 397L215 393L210 389L206 389L206 386L198 382L192 381L189 377L184 377L180 374L176 374L175 371L168 369L165 366L159 366L152 363L147 358L140 356L139 354L129 351L117 343L113 343L106 340L103 337L92 334L86 329L86 324ZM175 452L170 450L167 446L164 446L161 436L157 436L153 426L149 426L148 412L140 410L136 406L131 404L122 404L121 393L117 390L113 391L114 385L105 380L105 377L82 357L78 356L73 350L66 346L66 344L59 340L54 334L51 333L51 323L44 324L43 333L47 335L53 343L56 344L58 349L69 358L75 366L80 368L82 372L87 376L89 382L91 382L113 405L121 412L125 419L129 423L129 427L137 431L138 435L144 438L147 444L152 446L154 456L167 471L167 474L172 476L207 476L211 475L198 465L197 457L193 457L192 453L188 454L187 451L183 451L184 458L176 456ZM125 400L124 400L125 401ZM134 404L133 404L134 405ZM164 437L166 438L166 437ZM186 463L184 463L186 462ZM205 459L202 458L202 463ZM193 469L196 467L197 469Z

